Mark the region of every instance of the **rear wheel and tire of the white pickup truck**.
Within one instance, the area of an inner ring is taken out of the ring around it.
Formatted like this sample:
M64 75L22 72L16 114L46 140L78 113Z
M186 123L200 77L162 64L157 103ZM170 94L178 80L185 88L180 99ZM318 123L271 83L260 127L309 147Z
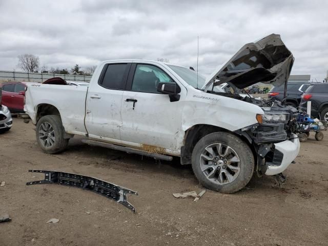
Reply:
M69 139L64 138L64 127L58 115L46 115L36 124L36 141L40 148L48 154L64 151Z

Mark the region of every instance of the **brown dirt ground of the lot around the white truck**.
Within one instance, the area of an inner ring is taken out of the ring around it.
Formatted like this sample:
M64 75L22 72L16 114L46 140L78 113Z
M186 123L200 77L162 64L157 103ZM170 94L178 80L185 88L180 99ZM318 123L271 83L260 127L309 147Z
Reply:
M283 189L272 177L253 178L235 194L207 190L198 202L172 193L203 188L191 167L100 147L81 138L61 154L43 153L33 125L13 119L0 135L0 245L328 245L328 132L311 135L288 170ZM90 191L26 186L43 179L29 169L97 177L139 193L121 204ZM88 213L87 213L88 212ZM58 223L46 223L51 218Z

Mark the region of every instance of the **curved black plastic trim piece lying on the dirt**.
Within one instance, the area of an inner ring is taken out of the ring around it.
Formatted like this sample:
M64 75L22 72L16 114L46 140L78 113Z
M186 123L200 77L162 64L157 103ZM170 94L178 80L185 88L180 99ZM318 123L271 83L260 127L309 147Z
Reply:
M43 183L57 183L63 186L72 186L89 191L93 191L100 195L103 195L109 199L112 199L123 206L136 212L133 205L128 202L127 194L138 195L137 192L130 189L114 185L113 183L106 182L101 179L57 171L47 171L47 170L29 170L32 173L44 173L45 179L39 181L27 182L26 185L37 185Z

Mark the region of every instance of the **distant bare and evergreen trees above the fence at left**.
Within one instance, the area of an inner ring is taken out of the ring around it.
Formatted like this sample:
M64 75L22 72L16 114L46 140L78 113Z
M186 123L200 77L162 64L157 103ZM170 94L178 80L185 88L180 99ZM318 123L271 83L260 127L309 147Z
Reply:
M23 69L25 72L29 73L57 73L57 74L74 74L74 75L86 75L91 76L96 69L96 66L87 67L81 69L78 64L71 69L69 68L48 68L47 66L42 66L40 68L40 59L38 56L33 54L23 54L18 55L18 64L17 66Z

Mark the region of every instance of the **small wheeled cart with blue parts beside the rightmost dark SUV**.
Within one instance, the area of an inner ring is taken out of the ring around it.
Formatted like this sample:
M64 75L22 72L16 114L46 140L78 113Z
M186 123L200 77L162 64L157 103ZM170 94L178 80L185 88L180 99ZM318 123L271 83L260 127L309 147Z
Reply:
M305 142L308 140L310 132L315 132L315 138L317 141L323 139L322 131L327 130L327 121L312 119L309 115L305 113L300 113L297 117L297 135L300 142Z

